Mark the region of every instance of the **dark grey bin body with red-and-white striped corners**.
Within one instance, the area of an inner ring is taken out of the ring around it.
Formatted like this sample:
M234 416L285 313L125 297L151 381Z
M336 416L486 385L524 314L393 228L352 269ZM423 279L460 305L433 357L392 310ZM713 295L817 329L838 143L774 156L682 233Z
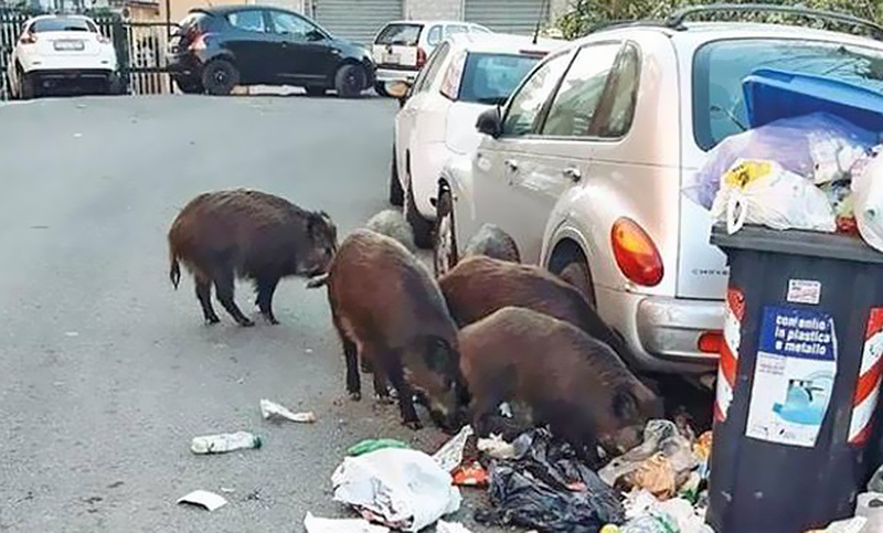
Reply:
M756 226L716 225L711 242L730 285L709 523L798 533L851 516L875 466L883 254L855 237Z

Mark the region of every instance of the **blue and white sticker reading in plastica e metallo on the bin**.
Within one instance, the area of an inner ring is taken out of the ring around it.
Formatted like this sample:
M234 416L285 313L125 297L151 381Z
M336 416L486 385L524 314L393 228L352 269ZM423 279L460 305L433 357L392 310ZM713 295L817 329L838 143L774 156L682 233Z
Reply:
M837 335L827 313L765 307L745 435L812 448L837 376Z

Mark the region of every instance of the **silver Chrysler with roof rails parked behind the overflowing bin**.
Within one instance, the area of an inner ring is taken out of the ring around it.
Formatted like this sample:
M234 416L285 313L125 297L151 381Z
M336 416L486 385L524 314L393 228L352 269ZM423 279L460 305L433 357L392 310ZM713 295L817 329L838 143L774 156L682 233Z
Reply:
M483 223L497 224L523 260L585 290L632 348L632 363L713 371L728 270L709 244L709 213L682 184L747 124L742 81L754 70L883 90L883 43L683 22L708 9L594 32L550 54L503 107L482 114L480 146L451 159L439 180L436 264L449 268Z

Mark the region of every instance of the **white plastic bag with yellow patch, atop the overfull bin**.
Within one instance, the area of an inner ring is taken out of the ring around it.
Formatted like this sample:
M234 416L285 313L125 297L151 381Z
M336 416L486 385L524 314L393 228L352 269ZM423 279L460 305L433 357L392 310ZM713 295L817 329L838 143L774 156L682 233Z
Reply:
M721 178L711 214L726 222L731 234L744 224L829 233L837 230L825 193L810 180L773 161L737 160Z

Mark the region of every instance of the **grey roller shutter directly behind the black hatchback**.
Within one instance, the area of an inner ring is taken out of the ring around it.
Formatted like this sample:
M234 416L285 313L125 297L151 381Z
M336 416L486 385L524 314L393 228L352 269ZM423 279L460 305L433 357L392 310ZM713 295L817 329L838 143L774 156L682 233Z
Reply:
M402 0L312 0L312 17L334 36L371 44L384 24L402 19Z

